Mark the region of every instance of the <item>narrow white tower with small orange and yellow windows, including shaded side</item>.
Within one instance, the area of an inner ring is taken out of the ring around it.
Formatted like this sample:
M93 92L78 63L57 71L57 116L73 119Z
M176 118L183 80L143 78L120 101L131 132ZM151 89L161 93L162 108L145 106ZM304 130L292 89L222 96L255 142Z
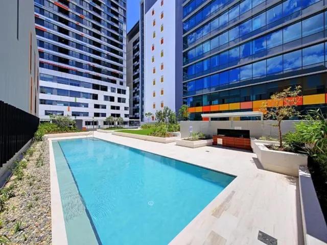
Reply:
M141 1L141 84L144 110L182 104L182 1Z

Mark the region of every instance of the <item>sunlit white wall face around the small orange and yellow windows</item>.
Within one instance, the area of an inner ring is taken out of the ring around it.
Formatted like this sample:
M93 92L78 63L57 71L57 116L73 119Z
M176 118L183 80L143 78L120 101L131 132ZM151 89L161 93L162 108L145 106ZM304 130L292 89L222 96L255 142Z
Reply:
M144 113L152 112L155 114L160 110L161 102L175 111L175 1L164 1L160 6L160 0L145 14L145 59L144 59ZM152 10L154 9L154 15ZM164 18L160 18L161 12L164 12ZM155 26L153 20L155 19ZM161 24L164 24L164 31L160 31ZM155 38L153 38L155 31ZM160 44L161 37L164 38L164 44ZM154 51L152 51L154 44ZM161 50L164 50L164 57L160 57ZM154 62L152 63L152 56ZM160 69L161 63L164 63L164 69ZM153 74L153 67L156 72ZM160 82L164 75L164 82ZM153 79L156 80L153 85ZM164 95L160 95L160 90L164 89ZM155 97L153 97L155 91ZM155 109L153 109L155 103Z

